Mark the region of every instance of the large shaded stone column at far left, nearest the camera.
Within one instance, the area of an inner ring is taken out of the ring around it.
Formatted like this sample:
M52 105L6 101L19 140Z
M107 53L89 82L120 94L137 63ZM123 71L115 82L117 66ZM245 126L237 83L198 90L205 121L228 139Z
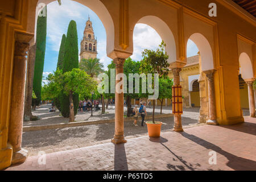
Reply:
M13 84L11 94L11 113L9 123L9 142L13 147L12 164L23 163L27 157L27 151L21 148L22 125L24 111L24 88L26 72L26 55L28 43L15 42L13 62Z

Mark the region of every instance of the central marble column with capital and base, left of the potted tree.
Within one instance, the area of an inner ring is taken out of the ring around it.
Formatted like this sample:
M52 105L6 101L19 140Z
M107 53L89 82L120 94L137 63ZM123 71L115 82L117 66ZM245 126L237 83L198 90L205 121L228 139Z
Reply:
M115 63L115 76L119 73L123 73L123 63L125 63L125 59L117 58L114 60ZM116 80L115 85L119 82L123 82L123 80ZM111 140L115 144L119 143L126 143L125 137L123 135L123 92L118 93L117 89L122 88L115 88L115 134L114 138Z

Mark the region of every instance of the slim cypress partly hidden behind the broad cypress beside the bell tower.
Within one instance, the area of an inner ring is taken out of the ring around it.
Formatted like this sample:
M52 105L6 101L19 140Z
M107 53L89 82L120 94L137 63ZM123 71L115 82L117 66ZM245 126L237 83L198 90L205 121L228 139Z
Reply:
M65 41L66 41L66 35L62 35L61 43L60 43L60 51L59 51L59 57L57 62L57 68L56 69L63 69L63 62L64 62L64 54L65 54ZM55 105L57 109L61 110L60 108L60 97L54 99Z

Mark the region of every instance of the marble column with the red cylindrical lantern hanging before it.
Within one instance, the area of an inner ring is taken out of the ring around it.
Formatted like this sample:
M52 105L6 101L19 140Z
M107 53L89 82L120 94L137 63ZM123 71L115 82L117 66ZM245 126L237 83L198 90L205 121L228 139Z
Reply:
M172 68L172 72L174 74L174 86L180 86L180 71L181 68ZM173 97L177 97L177 93L175 93ZM172 105L172 107L174 107L174 105ZM183 131L181 124L181 113L174 113L174 131Z

